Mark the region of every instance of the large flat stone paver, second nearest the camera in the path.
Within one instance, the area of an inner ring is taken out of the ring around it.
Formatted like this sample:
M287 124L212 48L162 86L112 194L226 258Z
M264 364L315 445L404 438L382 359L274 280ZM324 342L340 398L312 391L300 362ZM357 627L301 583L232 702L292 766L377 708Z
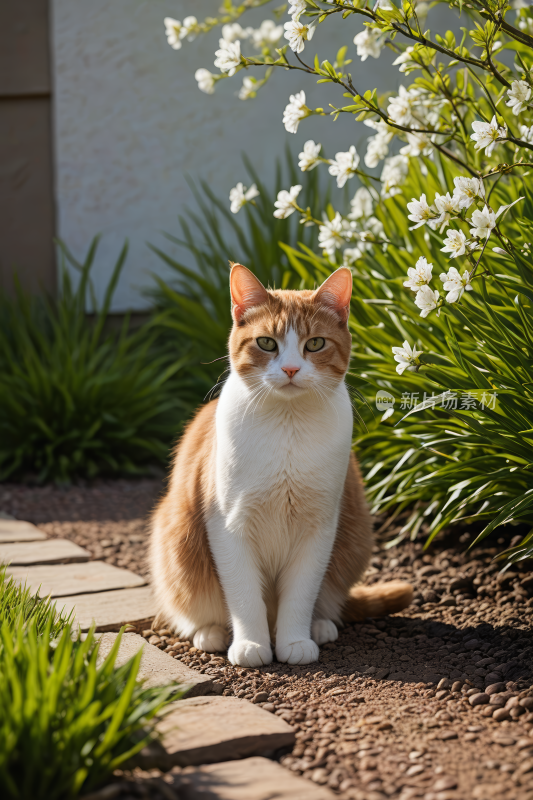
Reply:
M294 729L284 720L236 697L180 701L158 730L171 763L178 766L270 755L295 742Z

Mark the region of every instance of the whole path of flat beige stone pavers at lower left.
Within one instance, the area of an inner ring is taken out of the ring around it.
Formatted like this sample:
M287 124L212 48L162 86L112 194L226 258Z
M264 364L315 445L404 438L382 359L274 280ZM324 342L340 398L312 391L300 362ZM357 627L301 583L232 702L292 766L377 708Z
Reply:
M72 612L82 630L94 624L101 632L101 663L116 641L116 631L126 624L137 629L148 624L155 607L144 578L89 558L87 550L69 540L47 539L30 523L0 518L0 563L8 564L8 575L42 597L57 598L57 608ZM165 770L164 786L175 782L179 797L190 800L332 800L326 787L310 784L269 760L296 743L295 730L285 720L248 700L218 696L224 691L222 683L135 633L123 634L117 666L141 648L139 678L146 685L176 682L184 689L185 699L173 704L158 724L160 740L137 760L141 766ZM172 772L175 767L177 773ZM111 784L93 797L118 797L120 791Z

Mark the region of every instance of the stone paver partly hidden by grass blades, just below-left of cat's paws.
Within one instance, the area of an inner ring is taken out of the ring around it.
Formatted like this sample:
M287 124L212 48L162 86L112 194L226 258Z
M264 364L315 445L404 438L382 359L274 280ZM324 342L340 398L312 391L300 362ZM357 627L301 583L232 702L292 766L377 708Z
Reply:
M116 633L102 634L100 637L99 663L107 656L116 638ZM139 668L139 677L146 681L146 686L166 686L172 681L177 681L188 687L185 692L187 697L203 695L213 689L213 679L209 675L202 675L193 669L189 669L177 659L172 658L167 653L163 653L152 644L148 644L142 636L136 633L125 633L122 636L120 650L115 662L116 665L125 664L143 646L144 652Z

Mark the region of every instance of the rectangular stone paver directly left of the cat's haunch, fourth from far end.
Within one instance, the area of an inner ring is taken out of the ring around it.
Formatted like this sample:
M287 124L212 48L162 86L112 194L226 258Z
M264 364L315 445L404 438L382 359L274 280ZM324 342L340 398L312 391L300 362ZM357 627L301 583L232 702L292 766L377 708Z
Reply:
M82 631L88 630L93 622L97 631L118 631L128 622L148 622L157 613L149 586L64 597L57 604L58 608L62 606L66 613L74 610Z

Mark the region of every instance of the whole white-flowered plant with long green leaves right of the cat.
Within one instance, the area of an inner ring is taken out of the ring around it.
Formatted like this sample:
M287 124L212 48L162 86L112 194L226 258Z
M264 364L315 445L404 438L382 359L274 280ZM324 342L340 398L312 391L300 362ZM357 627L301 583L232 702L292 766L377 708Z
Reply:
M530 557L533 9L434 3L450 29L432 33L424 2L291 0L285 22L272 10L266 38L241 26L257 5L268 3L228 1L203 22L167 18L167 36L181 47L221 26L219 72L196 74L210 94L243 73L248 102L276 69L297 72L302 88L279 115L289 133L313 115L348 121L341 152L308 140L298 164L327 168L337 189L358 183L350 206L334 189L317 213L297 178L272 213L298 215L317 232L318 248L285 248L304 283L341 264L353 270L351 380L369 400L390 395L381 422L358 440L374 511L410 509L400 536L416 536L426 520L429 540L459 520L481 523L476 541L523 523L506 555ZM320 26L331 18L343 46L319 58ZM405 80L380 97L358 59L384 48ZM309 79L328 85L328 109L308 105ZM351 141L354 117L370 129L364 152ZM255 202L243 191L235 209Z

